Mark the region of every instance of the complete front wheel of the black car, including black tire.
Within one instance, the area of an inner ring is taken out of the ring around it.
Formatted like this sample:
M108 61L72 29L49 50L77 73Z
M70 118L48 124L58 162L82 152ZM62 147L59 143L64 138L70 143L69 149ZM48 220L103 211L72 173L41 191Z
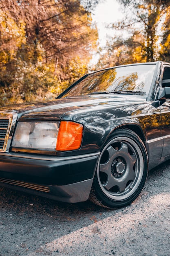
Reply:
M117 130L100 154L89 199L109 209L125 207L141 193L147 174L148 156L139 136Z

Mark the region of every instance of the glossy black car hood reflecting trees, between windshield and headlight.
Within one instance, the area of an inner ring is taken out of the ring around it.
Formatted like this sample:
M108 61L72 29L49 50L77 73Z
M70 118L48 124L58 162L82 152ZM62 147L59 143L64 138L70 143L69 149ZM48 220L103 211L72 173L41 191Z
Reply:
M18 113L18 120L60 120L68 113L75 111L97 111L109 106L131 106L146 101L144 97L135 95L88 95L79 97L69 97L53 99L48 101L37 101L34 103L21 103L10 106L4 106L2 111ZM86 110L85 110L86 109Z

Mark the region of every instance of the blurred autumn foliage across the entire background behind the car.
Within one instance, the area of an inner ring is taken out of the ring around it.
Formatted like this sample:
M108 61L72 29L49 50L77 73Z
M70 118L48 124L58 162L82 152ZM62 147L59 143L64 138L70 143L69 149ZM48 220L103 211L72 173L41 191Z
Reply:
M117 0L125 18L101 49L91 13L102 1L0 1L1 106L53 99L89 70L170 62L170 1Z

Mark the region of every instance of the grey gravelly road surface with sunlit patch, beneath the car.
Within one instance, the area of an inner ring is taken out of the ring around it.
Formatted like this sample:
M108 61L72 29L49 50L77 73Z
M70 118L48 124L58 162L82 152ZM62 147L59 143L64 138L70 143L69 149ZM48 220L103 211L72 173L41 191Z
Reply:
M170 256L170 161L116 210L0 188L0 256L45 255Z

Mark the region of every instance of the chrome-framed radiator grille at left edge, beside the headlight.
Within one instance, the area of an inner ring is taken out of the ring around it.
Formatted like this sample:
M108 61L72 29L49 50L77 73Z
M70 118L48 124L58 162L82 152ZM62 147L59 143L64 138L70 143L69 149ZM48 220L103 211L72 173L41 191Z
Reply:
M0 113L0 152L9 151L17 116L16 113Z

